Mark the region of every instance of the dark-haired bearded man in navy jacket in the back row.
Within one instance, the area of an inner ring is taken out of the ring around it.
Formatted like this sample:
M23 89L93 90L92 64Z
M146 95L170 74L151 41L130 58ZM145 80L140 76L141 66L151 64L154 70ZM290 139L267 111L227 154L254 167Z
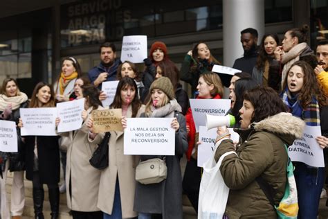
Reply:
M100 45L100 64L88 72L89 80L95 87L101 89L102 82L117 80L116 73L120 60L116 59L116 46L110 42Z

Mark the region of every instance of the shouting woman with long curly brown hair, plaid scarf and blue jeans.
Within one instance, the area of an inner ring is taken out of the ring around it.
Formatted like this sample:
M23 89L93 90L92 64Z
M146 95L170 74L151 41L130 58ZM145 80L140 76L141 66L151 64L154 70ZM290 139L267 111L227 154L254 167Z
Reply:
M298 116L307 125L320 125L320 107L326 105L326 96L318 85L316 75L307 62L291 65L284 80L282 100L293 116ZM317 137L322 148L327 147L326 137ZM316 218L320 193L325 179L325 168L314 168L302 162L293 162L298 186L299 218Z

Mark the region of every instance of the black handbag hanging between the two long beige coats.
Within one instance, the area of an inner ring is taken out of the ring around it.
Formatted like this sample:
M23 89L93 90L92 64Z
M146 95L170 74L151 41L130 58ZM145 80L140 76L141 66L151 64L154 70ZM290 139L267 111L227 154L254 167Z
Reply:
M102 170L104 168L107 168L107 166L108 166L109 137L111 137L111 133L106 132L104 135L104 139L102 139L102 142L100 144L98 144L98 148L95 149L95 151L92 154L92 157L89 159L91 166L93 166L94 168L97 168L98 170Z

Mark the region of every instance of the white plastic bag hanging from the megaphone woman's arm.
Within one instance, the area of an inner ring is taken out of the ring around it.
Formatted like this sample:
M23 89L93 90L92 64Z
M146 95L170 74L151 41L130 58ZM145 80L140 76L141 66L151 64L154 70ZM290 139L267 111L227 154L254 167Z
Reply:
M199 188L198 219L222 219L224 216L229 188L224 183L220 166L224 157L233 153L236 154L235 151L224 153L216 163L213 152L212 158L205 162Z

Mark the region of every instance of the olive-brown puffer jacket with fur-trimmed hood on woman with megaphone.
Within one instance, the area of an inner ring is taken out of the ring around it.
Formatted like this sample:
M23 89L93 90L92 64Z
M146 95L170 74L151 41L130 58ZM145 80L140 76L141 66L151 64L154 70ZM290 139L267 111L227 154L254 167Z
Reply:
M237 155L228 155L220 166L224 182L230 188L226 216L228 218L277 218L266 195L256 182L259 175L275 189L275 204L284 195L287 152L302 137L304 121L288 113L280 113L253 123L246 130L236 129L242 139ZM216 161L225 152L233 151L233 141L221 142L215 152Z

